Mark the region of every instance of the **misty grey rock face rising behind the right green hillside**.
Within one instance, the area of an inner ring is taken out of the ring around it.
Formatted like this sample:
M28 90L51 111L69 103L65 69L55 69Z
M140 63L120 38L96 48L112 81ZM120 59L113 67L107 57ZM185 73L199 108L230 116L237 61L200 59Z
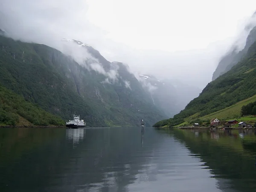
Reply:
M226 73L234 65L236 65L241 59L247 54L249 47L256 41L256 26L251 29L249 35L246 39L246 44L244 49L238 51L238 46L233 45L230 51L224 55L221 61L218 64L215 72L212 75L212 80L215 80L218 76Z

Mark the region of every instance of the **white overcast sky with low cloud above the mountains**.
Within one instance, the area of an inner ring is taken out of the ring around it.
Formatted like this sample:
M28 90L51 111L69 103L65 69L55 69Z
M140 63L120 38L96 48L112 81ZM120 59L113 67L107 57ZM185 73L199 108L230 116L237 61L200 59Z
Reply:
M255 11L255 0L1 0L0 27L52 47L77 39L134 72L204 88Z

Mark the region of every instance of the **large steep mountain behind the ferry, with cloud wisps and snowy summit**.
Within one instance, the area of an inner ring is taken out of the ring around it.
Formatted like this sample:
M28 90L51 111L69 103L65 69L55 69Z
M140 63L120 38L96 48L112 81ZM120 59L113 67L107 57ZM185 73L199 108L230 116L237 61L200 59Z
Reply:
M80 54L76 61L46 45L0 35L0 83L64 120L80 114L89 126L137 126L141 118L151 126L165 118L124 64L75 42L79 49L69 50Z

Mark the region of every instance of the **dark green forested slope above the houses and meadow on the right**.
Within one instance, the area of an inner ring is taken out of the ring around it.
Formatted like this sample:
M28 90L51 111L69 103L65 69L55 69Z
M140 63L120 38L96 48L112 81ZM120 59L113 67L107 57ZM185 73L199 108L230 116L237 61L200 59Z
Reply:
M202 117L227 108L236 102L256 95L256 42L247 51L241 62L227 73L207 84L200 96L193 99L186 108L174 118L157 122L154 127L175 126L184 118Z

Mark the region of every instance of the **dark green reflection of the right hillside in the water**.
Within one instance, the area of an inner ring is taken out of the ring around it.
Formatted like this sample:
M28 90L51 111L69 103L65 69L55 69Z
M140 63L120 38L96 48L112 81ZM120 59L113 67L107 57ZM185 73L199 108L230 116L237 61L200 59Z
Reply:
M227 183L238 191L255 191L256 137L255 131L197 131L169 130L186 143L186 147L198 154L205 166L218 180L218 187L228 192ZM239 137L239 134L243 137ZM250 151L248 150L250 149ZM254 150L254 151L253 151ZM233 190L232 190L233 191Z

